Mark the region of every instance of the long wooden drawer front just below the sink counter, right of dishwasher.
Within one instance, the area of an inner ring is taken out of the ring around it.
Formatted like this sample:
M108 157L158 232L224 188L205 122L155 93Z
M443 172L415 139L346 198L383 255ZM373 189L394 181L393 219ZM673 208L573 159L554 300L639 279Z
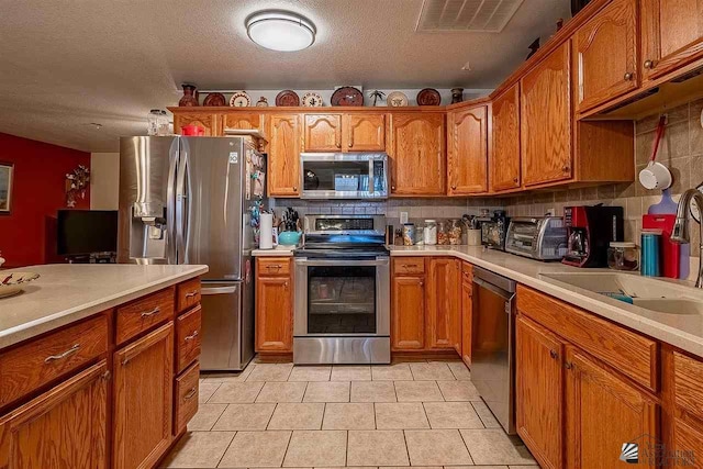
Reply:
M657 391L659 346L655 340L522 286L517 287L517 310Z

